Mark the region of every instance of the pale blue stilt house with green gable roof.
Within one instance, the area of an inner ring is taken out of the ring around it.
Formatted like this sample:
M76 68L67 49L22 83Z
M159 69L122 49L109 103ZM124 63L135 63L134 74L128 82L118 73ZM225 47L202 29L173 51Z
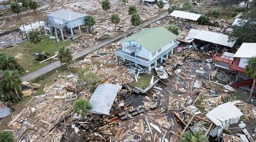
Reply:
M135 66L142 65L150 71L152 66L157 66L158 61L173 53L179 44L177 36L164 27L146 28L137 34L122 39L122 49L114 54L124 61L133 62Z

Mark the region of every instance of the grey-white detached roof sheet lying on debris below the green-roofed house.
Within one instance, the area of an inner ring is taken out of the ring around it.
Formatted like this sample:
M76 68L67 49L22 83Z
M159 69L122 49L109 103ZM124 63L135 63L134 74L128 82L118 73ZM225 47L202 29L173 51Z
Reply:
M109 115L115 96L120 88L121 86L119 84L113 85L106 83L98 85L92 98L90 98L92 108L90 108L89 112L93 114Z

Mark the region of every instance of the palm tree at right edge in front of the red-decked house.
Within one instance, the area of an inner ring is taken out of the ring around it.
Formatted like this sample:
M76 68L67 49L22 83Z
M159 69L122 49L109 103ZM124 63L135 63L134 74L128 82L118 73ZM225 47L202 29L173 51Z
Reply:
M256 82L256 57L252 57L248 60L248 65L245 67L245 73L248 77L253 78L253 86L251 86L251 92L249 95L249 101L251 101L251 96L253 95L253 89Z

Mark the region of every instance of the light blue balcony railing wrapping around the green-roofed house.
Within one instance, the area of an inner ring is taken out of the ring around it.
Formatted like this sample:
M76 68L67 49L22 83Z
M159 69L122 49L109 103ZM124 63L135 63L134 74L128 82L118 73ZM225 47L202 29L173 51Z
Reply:
M134 57L134 56L131 56L129 53L124 52L122 50L115 51L114 54L116 56L122 57L123 59L129 60L129 61L132 61L132 62L136 62L137 64L140 64L140 65L143 65L143 66L150 66L151 64L154 63L155 60L158 60L161 56L166 55L166 53L170 52L172 49L177 47L177 45L179 45L179 42L175 41L175 43L172 44L172 46L169 49L167 49L166 51L160 53L158 56L156 56L152 60L145 60L145 59L142 59L140 57Z

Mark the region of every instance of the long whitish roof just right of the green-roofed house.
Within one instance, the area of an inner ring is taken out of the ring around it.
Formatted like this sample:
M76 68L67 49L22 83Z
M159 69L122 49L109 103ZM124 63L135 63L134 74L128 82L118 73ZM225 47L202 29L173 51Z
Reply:
M224 45L226 47L233 47L236 41L229 42L229 36L224 34L218 34L216 32L201 31L195 36L195 39L208 41L210 43L216 43L219 45Z

